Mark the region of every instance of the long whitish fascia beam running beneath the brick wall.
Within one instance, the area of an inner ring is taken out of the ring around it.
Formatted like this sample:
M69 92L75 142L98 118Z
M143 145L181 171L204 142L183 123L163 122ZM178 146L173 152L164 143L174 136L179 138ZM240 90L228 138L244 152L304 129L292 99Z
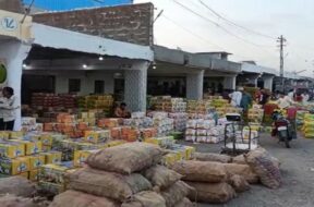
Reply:
M36 23L33 24L33 44L41 47L126 59L154 60L153 50L148 46L112 40Z

